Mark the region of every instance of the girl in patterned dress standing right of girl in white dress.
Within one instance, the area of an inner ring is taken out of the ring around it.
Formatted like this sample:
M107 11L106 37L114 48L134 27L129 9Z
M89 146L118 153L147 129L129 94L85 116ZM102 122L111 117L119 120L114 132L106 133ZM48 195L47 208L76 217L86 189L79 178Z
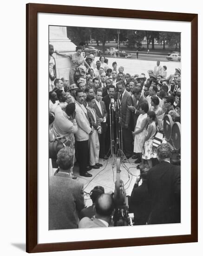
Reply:
M157 158L157 150L153 148L152 143L154 136L156 135L156 114L154 111L148 111L147 113L147 120L148 120L148 128L147 128L147 135L145 137L144 142L144 149L142 158L147 160L149 168L152 167L152 158Z

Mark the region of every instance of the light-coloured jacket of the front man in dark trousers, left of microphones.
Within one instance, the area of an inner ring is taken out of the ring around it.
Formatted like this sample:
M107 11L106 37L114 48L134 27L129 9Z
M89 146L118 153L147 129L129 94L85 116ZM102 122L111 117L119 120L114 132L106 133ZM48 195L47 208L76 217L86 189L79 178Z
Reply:
M77 101L75 102L76 122L78 124L78 131L76 135L76 141L89 140L89 134L91 132L90 123L87 117L85 106L81 106Z

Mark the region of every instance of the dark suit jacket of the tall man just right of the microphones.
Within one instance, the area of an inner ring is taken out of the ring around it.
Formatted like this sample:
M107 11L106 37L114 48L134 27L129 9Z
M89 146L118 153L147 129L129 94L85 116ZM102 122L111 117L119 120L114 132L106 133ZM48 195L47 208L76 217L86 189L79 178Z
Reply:
M120 99L120 93L114 94L114 99L119 100ZM125 93L123 94L122 100L121 100L121 120L122 120L122 127L124 128L124 124L129 125L131 120L131 110L128 108L128 106L132 105L132 96L131 94L125 90Z

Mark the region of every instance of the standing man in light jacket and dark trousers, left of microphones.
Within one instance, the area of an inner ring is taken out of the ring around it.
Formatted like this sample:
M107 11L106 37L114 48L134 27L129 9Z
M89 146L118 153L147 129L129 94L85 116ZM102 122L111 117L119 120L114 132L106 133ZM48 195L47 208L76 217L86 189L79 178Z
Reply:
M85 95L82 90L76 92L76 122L78 124L78 131L76 136L76 150L77 150L77 160L79 162L79 174L85 177L92 177L92 174L88 173L87 168L89 165L89 134L92 133L93 128L90 127L90 122L87 117L87 110L83 105L85 101Z

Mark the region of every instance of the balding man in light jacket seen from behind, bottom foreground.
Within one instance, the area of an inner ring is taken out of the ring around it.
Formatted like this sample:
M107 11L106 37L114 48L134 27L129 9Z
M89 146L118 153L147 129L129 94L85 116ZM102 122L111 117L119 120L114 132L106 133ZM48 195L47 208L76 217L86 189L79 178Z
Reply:
M82 218L79 222L79 229L108 227L113 210L113 197L108 194L100 195L95 202L95 217Z

